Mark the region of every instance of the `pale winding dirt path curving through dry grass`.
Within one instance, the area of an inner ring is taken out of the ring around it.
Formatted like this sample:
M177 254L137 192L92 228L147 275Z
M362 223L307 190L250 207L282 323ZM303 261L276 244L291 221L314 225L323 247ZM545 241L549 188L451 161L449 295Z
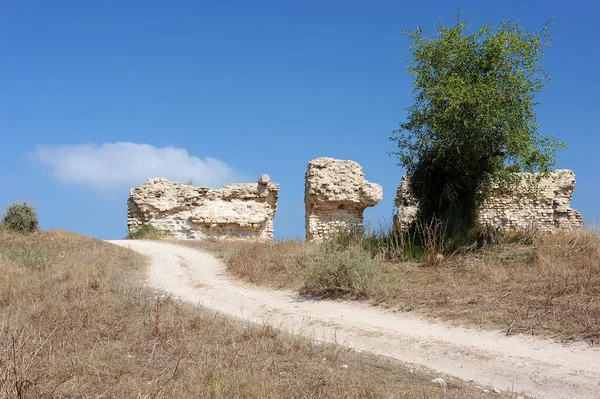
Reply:
M600 398L600 348L450 327L356 302L307 300L245 285L204 252L168 242L111 241L151 257L150 286L218 312L314 340L416 363L538 398Z

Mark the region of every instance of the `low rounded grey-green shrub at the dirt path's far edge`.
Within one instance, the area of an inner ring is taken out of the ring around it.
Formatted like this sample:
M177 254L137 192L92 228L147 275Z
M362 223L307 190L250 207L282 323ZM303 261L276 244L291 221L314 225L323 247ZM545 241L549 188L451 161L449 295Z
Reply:
M320 297L365 297L379 274L379 256L360 244L324 244L306 261L302 294Z

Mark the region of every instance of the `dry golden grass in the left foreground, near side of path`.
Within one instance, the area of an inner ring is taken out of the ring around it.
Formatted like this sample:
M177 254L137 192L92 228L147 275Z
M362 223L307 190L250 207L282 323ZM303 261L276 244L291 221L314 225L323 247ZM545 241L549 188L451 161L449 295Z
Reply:
M443 397L426 370L142 288L141 256L89 237L0 232L0 268L1 398ZM487 395L449 379L448 397Z

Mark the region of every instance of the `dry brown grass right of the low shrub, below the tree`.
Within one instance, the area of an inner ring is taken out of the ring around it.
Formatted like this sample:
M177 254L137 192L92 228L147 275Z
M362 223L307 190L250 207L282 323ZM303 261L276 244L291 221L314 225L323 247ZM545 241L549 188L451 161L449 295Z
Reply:
M591 230L458 255L436 267L388 264L375 301L507 334L600 339L600 236Z

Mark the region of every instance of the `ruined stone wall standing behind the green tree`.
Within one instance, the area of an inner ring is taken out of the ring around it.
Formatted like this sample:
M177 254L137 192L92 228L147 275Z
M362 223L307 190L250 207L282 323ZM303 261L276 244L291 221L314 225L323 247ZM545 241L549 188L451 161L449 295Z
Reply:
M530 181L539 175L519 173L521 186L511 191L492 190L490 198L479 210L479 222L482 225L497 227L500 230L541 231L581 228L582 217L570 208L571 197L575 190L575 174L566 169L556 170L541 178L537 189L527 189ZM401 228L408 226L419 209L417 201L410 195L410 179L404 176L394 201L398 213L394 223Z

